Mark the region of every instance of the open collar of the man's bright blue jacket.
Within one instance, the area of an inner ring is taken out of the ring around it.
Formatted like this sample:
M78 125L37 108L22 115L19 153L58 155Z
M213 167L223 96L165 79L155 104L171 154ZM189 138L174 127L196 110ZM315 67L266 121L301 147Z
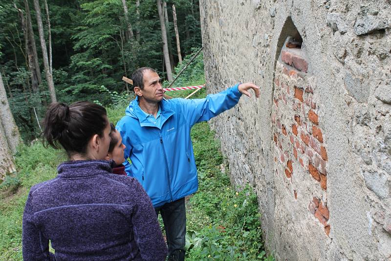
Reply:
M175 111L170 108L170 105L166 99L163 99L159 102L159 109L163 126L163 124L175 113ZM125 114L132 118L138 119L141 127L156 127L147 119L145 113L138 105L138 97L130 102L129 107L125 110Z

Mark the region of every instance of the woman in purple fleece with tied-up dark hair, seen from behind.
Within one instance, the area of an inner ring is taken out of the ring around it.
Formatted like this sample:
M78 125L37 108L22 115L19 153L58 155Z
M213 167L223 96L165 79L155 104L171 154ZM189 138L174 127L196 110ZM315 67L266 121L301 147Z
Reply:
M106 109L52 104L43 143L64 149L58 175L30 190L23 213L23 259L164 260L167 245L149 196L131 177L111 174ZM55 254L49 252L49 240Z

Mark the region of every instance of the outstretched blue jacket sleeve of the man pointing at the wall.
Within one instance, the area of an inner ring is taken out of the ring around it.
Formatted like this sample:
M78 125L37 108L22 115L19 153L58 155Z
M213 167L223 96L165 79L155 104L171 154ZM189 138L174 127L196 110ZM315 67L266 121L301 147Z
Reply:
M240 99L239 84L216 94L209 94L204 99L181 99L182 109L189 124L207 121L221 112L234 107Z

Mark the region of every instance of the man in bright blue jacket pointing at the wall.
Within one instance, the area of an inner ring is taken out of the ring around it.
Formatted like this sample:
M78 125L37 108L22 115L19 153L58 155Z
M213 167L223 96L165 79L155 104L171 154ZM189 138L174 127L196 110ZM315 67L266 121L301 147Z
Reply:
M133 75L137 97L130 102L117 123L126 146L124 163L128 175L135 177L151 197L156 214L162 215L169 248L169 260L184 260L186 236L185 196L197 191L197 169L190 130L231 109L241 94L259 97L259 87L237 84L204 99L163 99L161 79L148 67Z

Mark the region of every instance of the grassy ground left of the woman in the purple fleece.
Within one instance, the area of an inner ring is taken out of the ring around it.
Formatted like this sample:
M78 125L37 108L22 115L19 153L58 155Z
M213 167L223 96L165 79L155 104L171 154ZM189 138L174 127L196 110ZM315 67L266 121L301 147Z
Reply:
M1 198L0 194L0 260L22 260L22 215L28 192L34 184L54 178L56 166L64 159L64 153L45 149L40 142L19 148L18 174L10 182L20 187L13 196Z

